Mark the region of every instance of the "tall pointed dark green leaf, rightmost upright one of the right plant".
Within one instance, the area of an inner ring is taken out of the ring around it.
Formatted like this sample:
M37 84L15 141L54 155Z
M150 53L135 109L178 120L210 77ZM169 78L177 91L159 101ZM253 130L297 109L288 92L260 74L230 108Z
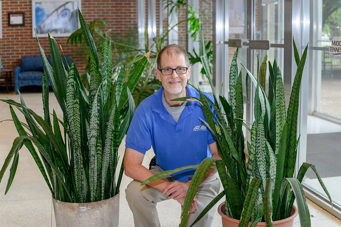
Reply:
M288 107L288 114L286 123L288 125L288 156L287 156L287 175L286 177L292 177L294 175L295 164L296 164L296 135L297 135L297 114L299 105L299 92L303 73L303 67L306 62L308 51L308 45L304 50L299 66L296 71L293 87L290 95L290 102Z

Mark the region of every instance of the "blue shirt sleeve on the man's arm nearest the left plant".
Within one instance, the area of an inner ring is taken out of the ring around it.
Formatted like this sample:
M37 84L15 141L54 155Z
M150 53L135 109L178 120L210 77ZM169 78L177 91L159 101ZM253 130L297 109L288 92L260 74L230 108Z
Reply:
M145 114L137 108L125 138L126 147L146 154L146 151L151 148L150 129L147 122Z

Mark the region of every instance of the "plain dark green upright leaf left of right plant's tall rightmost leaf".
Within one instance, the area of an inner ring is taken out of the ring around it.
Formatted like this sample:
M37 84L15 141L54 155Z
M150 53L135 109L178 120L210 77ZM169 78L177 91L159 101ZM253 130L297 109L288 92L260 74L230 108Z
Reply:
M287 139L288 139L288 133L287 133L287 126L286 123L284 123L281 140L280 140L280 146L277 154L277 165L276 165L276 178L275 178L275 189L273 190L272 195L272 206L273 206L273 213L276 214L277 210L279 209L280 203L279 203L279 196L280 196L280 183L282 178L285 176L285 158L286 158L286 147L287 147Z

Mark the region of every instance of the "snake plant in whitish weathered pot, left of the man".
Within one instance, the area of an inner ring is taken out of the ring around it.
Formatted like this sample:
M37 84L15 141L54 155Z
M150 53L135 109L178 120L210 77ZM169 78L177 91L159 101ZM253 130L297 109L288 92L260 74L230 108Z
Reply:
M29 109L20 93L21 103L1 100L10 104L19 136L2 166L0 182L14 157L6 194L16 172L19 150L25 145L51 191L57 226L118 226L119 187L123 174L122 164L116 181L118 147L135 111L131 91L144 71L149 53L136 66L127 83L123 85L123 67L112 85L111 42L106 37L103 40L100 78L97 49L79 10L78 14L91 56L89 96L74 62L71 67L64 68L56 40L49 34L51 66L37 38L46 74L63 116L58 118L55 111L49 112L45 75L44 117ZM128 99L129 110L122 118L119 111ZM18 120L12 106L24 114L27 124Z

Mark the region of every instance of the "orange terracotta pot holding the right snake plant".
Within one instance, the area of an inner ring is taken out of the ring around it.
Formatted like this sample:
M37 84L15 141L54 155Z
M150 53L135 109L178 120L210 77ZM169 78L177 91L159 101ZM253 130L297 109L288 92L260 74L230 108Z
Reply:
M218 213L221 216L223 227L238 227L239 220L228 217L225 215L225 202L219 205ZM273 225L275 227L292 227L294 223L294 218L297 216L298 210L297 207L293 206L291 210L290 217L285 218L283 220L274 221ZM248 227L250 227L252 222L249 222ZM266 222L258 222L256 226L266 226Z

